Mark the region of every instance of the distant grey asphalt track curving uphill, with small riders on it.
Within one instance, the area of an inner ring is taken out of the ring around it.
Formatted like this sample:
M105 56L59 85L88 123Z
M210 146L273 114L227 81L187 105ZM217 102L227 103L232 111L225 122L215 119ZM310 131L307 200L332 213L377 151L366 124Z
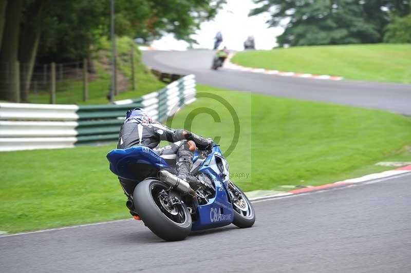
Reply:
M214 71L210 69L212 57L210 50L143 52L146 65L164 72L194 73L201 84L411 115L411 85L408 84L303 79L225 68Z

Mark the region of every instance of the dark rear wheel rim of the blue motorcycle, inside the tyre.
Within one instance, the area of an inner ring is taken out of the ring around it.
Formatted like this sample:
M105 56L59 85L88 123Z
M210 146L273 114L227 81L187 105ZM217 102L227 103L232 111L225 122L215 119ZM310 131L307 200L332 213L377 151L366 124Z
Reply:
M153 185L150 191L154 203L165 217L177 225L185 225L188 222L188 215L182 202L172 204L171 200L167 200L168 194L165 192L164 187Z

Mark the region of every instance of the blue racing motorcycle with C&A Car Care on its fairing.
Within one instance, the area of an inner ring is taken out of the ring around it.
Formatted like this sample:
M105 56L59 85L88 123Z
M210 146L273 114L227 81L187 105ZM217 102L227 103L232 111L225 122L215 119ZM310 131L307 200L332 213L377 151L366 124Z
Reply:
M191 169L195 185L179 179L173 164L148 147L114 149L107 159L113 173L138 182L127 206L134 207L144 224L166 241L183 240L191 230L231 223L244 228L255 222L254 208L230 181L229 165L218 145L195 151Z

